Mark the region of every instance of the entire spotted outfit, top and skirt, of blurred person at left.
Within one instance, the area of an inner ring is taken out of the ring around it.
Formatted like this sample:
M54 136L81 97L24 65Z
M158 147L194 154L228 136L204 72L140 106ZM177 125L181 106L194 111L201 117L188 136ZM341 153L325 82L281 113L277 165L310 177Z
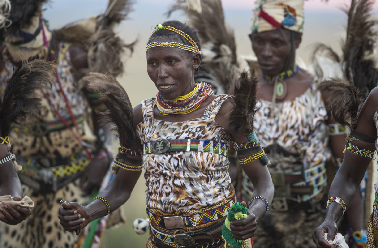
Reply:
M60 43L59 57L61 59L57 67L59 81L62 84L68 102L70 102L73 114L83 114L87 118L86 121L78 124L82 139L87 143L94 144L96 136L92 128L91 109L88 107L84 93L76 88L77 85L71 72L70 54L65 49L66 46L66 43ZM5 68L4 75L7 75L7 71L10 71L10 67L7 68ZM6 78L9 80L10 77L4 76L4 80ZM6 83L5 81L2 82L1 87L3 89L5 89ZM46 86L43 90L49 96L51 102L54 103L59 113L64 118L69 118L70 115L57 80L55 79L51 88ZM4 92L4 90L1 92ZM50 161L48 159L55 161L54 159L70 158L73 153L81 152L82 146L68 129L48 132L44 135L35 135L28 131L28 128L35 123L59 120L59 117L40 92L39 98L42 99L40 111L36 117L27 119L25 130L23 130L26 131L26 134L23 134L21 130L16 130L11 133L10 140L17 156L33 157L38 161L43 160L46 162L43 165L50 167L53 164L47 163ZM78 201L83 205L87 205L90 200L89 197L84 196L84 193L74 182L68 183L55 193L49 194L36 192L25 184L22 184L22 186L23 194L28 195L34 201L35 207L28 219L17 226L10 226L0 222L0 247L73 248L77 241L77 236L64 231L59 224L58 209L60 208L60 200L65 198L71 202Z

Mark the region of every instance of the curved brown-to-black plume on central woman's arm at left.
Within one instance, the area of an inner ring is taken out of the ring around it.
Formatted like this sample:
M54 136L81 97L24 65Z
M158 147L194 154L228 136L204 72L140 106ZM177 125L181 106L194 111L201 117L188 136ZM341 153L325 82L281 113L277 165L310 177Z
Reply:
M83 77L91 90L100 95L107 110L101 112L101 122L114 124L113 132L121 146L128 147L135 141L133 129L133 108L124 88L115 77L102 73L88 73Z

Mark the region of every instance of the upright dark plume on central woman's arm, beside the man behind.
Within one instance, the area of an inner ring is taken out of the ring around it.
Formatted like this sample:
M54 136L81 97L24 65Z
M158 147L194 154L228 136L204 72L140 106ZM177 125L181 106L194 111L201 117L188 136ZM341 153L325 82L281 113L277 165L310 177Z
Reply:
M253 118L256 113L256 92L259 80L251 70L251 76L243 72L234 88L235 107L228 116L230 128L235 133L248 135L253 132Z

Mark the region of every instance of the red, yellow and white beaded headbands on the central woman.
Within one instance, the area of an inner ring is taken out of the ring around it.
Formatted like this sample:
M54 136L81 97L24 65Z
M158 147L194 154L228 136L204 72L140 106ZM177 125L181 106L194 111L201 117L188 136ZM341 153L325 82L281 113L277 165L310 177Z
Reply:
M181 43L178 43L178 42L171 42L171 41L158 41L158 42L151 42L147 45L146 47L146 51L149 50L150 48L152 47L176 47L176 48L180 48L180 49L183 49L183 50L186 50L186 51L191 51L193 53L201 53L200 50L198 49L198 46L197 44L195 43L195 41L189 36L187 35L186 33L184 33L183 31L177 29L177 28L174 28L174 27L171 27L171 26L163 26L161 24L159 24L157 26L157 29L155 31L152 32L151 36L156 32L158 31L159 29L168 29L170 31L173 31L177 34L180 34L182 37L184 37L189 43L192 44L192 46L188 46L188 45L185 45L185 44L181 44Z

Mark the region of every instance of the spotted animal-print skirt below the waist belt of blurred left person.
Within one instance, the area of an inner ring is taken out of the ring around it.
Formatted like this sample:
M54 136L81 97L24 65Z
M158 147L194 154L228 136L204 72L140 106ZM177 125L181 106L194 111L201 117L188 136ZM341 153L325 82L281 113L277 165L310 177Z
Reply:
M86 205L90 200L84 196L76 182L68 183L55 193L39 194L25 184L23 194L34 201L31 215L22 223L12 226L0 222L1 248L73 248L78 240L75 233L64 231L59 224L60 200L70 199Z

